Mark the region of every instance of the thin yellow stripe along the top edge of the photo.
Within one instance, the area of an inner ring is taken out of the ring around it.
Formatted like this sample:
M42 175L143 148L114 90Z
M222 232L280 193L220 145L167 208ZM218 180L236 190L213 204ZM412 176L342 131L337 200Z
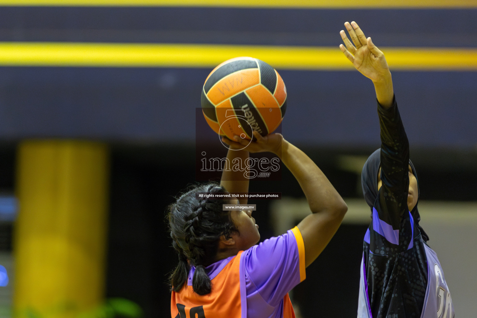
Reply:
M474 8L477 0L0 0L0 6Z

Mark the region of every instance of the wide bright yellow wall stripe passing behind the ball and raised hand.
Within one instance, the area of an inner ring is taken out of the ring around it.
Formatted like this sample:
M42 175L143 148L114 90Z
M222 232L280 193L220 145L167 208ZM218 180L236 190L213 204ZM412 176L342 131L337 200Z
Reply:
M477 71L477 48L381 48L393 70ZM277 69L352 70L336 47L0 42L0 66L209 68L252 56Z

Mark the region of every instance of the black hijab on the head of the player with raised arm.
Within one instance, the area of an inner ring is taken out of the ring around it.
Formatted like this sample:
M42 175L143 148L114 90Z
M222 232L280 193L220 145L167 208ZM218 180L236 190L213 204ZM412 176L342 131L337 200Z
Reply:
M419 202L419 180L417 179L417 174L414 168L414 164L409 160L413 174L416 177L417 181L417 201ZM366 203L373 208L374 202L378 197L378 171L381 165L381 148L377 149L368 157L366 163L363 166L363 171L361 173L361 185L363 187L363 195ZM429 237L425 233L424 229L419 225L421 221L421 216L417 210L417 203L414 209L411 211L414 221L421 232L421 236L425 242L429 240Z

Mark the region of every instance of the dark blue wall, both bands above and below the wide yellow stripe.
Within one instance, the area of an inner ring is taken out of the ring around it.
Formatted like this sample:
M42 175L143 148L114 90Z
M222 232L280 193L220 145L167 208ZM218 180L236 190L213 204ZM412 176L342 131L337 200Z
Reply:
M356 20L378 46L477 46L476 9L295 10L0 7L0 41L174 42L336 46ZM293 57L290 57L291 59ZM343 57L344 59L344 57ZM0 68L0 139L194 140L210 69ZM372 83L358 72L278 70L283 133L311 145L378 143ZM477 142L476 72L393 72L412 145Z

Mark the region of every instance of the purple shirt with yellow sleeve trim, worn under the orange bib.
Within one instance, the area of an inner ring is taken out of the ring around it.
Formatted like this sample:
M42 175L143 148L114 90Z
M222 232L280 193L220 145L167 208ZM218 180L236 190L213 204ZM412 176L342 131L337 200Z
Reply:
M233 257L207 266L210 279L216 277ZM192 267L187 280L189 286L192 285L194 271L195 267ZM241 293L246 298L246 317L283 317L283 298L303 279L304 245L297 227L250 247L240 258L240 285L245 283L245 295L243 291ZM243 302L244 297L244 312Z

